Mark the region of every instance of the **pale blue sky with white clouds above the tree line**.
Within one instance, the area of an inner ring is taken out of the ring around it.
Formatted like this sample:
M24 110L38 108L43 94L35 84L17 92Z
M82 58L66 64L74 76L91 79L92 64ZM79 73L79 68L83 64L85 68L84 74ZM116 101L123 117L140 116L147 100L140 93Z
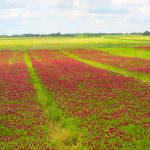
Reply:
M0 35L150 31L150 0L0 0Z

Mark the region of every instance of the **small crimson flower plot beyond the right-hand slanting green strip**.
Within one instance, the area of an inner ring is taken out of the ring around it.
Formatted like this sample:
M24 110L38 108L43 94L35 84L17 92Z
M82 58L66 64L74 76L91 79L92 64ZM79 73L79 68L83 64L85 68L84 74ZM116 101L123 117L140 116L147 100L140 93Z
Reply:
M72 53L84 59L112 65L128 71L136 71L146 74L150 73L150 60L114 56L107 52L100 52L97 50L75 50L72 51Z

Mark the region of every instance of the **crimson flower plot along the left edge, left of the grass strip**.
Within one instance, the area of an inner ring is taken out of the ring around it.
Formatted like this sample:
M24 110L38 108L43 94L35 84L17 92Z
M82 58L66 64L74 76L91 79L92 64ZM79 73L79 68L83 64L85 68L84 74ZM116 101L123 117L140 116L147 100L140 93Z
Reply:
M1 60L13 55L0 53ZM46 149L47 119L36 103L23 53L17 57L13 64L7 64L9 60L0 62L0 149Z

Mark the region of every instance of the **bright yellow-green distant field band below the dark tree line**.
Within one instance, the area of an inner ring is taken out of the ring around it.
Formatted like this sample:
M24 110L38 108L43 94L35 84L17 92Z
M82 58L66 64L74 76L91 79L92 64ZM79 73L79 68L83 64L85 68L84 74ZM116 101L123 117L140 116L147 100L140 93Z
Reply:
M101 36L74 38L0 38L0 49L74 49L150 45L150 36Z

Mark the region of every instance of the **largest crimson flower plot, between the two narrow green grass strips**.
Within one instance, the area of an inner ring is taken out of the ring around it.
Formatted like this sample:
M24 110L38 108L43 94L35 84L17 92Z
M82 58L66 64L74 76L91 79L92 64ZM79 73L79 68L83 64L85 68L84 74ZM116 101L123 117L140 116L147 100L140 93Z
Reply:
M148 84L58 51L32 51L30 57L60 109L81 121L83 144L91 149L148 148Z

